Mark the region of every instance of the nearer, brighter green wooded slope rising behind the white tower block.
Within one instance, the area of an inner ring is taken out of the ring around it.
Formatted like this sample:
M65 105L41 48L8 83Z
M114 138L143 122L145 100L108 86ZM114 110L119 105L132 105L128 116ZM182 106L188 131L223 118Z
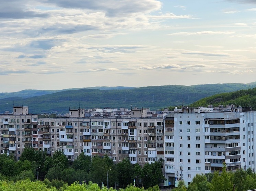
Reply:
M218 105L231 105L236 106L252 106L252 109L256 109L256 88L250 88L248 90L239 90L231 93L222 93L213 95L210 97L202 98L195 103L191 104L191 107L198 106L218 106Z

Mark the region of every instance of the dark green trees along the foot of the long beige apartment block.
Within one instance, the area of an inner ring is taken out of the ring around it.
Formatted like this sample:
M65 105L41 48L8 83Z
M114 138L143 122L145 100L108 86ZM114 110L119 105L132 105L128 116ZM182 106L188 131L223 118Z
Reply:
M66 155L57 151L53 156L48 156L43 151L34 148L25 148L20 160L15 161L12 155L0 155L0 180L19 181L29 179L39 180L61 188L65 183L71 185L94 182L101 186L126 188L130 183L143 188L153 187L164 180L162 175L162 162L147 163L143 167L131 164L128 159L123 159L118 164L107 155L93 157L81 153L77 159L70 162Z

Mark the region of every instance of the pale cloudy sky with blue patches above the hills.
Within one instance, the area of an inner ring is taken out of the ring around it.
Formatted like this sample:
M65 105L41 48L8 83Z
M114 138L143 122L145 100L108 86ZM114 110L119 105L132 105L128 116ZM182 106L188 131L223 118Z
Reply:
M256 81L256 0L1 0L0 92Z

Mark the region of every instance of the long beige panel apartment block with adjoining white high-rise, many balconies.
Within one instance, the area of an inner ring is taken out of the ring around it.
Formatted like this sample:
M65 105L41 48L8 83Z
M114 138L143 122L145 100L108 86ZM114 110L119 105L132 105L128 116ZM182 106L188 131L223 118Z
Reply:
M163 161L162 186L177 186L180 180L188 185L196 174L221 170L224 162L229 171L251 167L255 172L256 111L250 107L183 107L158 117L143 108L127 112L131 117L86 117L79 108L57 116L13 107L12 113L0 114L0 150L17 160L24 148L33 147L49 155L62 151L70 161L82 152L107 154L114 163Z

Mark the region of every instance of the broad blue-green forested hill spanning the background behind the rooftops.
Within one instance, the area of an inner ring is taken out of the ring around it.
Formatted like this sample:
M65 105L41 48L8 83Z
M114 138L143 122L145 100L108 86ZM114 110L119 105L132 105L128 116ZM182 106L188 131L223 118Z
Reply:
M12 112L13 105L28 106L30 113L68 113L69 108L138 108L156 110L170 106L189 105L202 98L224 92L256 87L256 84L165 85L130 89L79 89L56 92L30 98L0 99L0 113Z

